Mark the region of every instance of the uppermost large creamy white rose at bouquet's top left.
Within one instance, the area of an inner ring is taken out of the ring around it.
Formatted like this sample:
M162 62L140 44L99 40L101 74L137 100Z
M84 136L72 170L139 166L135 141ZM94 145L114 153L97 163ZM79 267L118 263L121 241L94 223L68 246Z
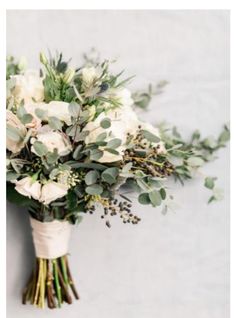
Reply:
M13 88L11 95L14 96L16 104L31 103L33 101L41 102L44 100L43 79L37 71L27 71L23 75L13 75L9 81Z

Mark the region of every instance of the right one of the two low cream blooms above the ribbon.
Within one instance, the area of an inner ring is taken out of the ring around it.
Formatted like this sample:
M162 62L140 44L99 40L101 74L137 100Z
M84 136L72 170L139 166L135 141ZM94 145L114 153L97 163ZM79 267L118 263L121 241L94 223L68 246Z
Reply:
M67 194L68 186L55 181L48 181L42 186L40 201L49 204Z

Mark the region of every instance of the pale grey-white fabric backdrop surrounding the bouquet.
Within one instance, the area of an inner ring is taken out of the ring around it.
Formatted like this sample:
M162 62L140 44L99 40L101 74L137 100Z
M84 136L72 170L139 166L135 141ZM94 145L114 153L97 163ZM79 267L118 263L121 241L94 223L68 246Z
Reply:
M142 114L165 119L184 136L199 128L217 134L229 121L229 12L227 11L8 11L8 54L38 66L42 49L63 51L79 64L96 47L119 58L117 69L136 74L142 88L166 79L165 93ZM229 149L203 169L217 175L223 201L199 177L171 185L178 204L163 216L135 205L138 226L86 216L73 232L72 270L81 295L73 306L41 310L20 303L33 261L25 210L7 210L8 318L229 318Z

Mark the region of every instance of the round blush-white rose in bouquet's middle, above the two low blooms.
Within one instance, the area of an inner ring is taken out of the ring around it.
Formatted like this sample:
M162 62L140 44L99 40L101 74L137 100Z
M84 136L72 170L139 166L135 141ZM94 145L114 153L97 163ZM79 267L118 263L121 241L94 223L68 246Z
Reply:
M36 140L42 142L50 152L57 149L60 156L65 156L72 150L71 143L66 135L58 131L53 131L48 125L39 129L36 138L31 139L31 143L33 144L31 151L33 153L36 153L34 150L34 142Z

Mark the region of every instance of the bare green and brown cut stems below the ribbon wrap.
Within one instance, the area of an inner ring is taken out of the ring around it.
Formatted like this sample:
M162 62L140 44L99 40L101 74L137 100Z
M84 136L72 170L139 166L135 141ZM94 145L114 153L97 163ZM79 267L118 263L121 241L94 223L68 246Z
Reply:
M70 289L74 297L79 299L66 255L56 259L37 258L23 291L22 303L30 302L44 308L46 299L48 308L60 308L63 302L72 304Z

